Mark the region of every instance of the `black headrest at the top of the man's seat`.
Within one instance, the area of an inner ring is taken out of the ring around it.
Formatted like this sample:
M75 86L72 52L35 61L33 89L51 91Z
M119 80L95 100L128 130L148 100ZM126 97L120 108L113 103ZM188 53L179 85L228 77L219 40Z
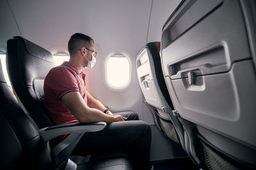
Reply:
M28 39L22 38L20 36L15 36L13 38L22 39L22 41L24 41L24 45L26 46L26 50L30 55L33 55L34 57L37 57L39 59L47 60L49 62L54 62L52 58L52 53L48 50L45 50L41 46L38 46L35 43L29 41Z

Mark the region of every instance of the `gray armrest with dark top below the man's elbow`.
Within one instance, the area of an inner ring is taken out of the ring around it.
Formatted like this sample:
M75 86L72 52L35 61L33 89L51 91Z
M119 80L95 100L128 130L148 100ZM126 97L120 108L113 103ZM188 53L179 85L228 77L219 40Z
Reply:
M106 125L105 122L61 124L40 129L39 134L47 142L63 134L102 131Z

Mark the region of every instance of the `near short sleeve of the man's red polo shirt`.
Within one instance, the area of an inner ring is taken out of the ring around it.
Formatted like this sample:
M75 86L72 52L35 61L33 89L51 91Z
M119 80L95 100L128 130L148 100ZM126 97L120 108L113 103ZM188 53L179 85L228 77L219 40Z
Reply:
M52 92L56 94L58 99L61 99L68 92L79 92L76 76L66 68L60 67L54 70L49 80Z

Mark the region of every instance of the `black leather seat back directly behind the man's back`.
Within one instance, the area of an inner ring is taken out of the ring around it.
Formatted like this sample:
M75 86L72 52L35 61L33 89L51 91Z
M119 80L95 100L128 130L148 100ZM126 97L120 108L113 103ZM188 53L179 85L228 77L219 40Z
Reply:
M44 78L55 66L51 53L27 39L15 37L7 42L7 62L13 89L24 108L40 129L52 125L42 105Z

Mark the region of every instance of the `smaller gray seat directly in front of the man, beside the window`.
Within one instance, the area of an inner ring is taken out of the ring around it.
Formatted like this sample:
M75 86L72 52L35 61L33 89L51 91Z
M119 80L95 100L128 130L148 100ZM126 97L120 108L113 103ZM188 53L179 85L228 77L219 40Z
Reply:
M164 82L157 43L159 45L159 42L148 43L138 54L136 60L138 80L145 102L154 112L156 125L168 138L180 143L183 141L183 130L179 120L172 114L173 104Z

